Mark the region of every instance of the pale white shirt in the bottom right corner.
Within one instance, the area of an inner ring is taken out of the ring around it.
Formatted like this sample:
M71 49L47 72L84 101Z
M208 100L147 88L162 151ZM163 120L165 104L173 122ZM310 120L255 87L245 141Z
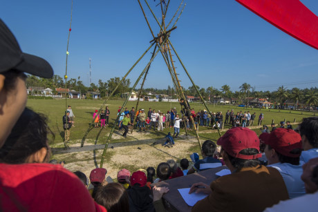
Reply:
M288 211L288 212L314 212L318 209L318 191L292 200L281 201L274 206L265 209L265 212Z

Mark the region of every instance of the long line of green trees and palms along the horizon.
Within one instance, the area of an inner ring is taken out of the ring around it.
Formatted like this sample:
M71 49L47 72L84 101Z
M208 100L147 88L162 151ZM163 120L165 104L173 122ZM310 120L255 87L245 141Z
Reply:
M112 93L116 86L118 86L120 82L120 77L115 77L108 79L107 81L102 81L102 79L98 80L97 84L91 83L89 87L85 86L83 81L80 80L80 77L77 79L71 78L66 81L60 77L59 75L54 75L51 79L44 79L41 77L35 77L33 75L29 75L26 79L27 87L44 87L53 89L53 93L55 92L55 88L69 88L70 90L80 91L81 93L86 93L87 91L95 91L100 92L101 97L106 97ZM118 89L115 90L114 96L120 97L122 93L129 92L131 89L129 86L131 84L130 79L124 79L122 83L118 86ZM268 99L269 102L274 104L283 104L286 99L290 99L294 101L295 107L299 104L299 102L303 102L308 106L318 106L318 88L292 88L288 89L284 86L279 86L277 90L269 91L269 90L261 90L257 91L250 84L243 83L239 90L231 90L231 87L227 84L221 86L221 89L218 90L213 86L209 86L208 88L198 88L200 94L203 96L205 100L213 99L215 97L227 97L227 98L236 98L238 102L241 104L247 104L247 99L252 97L254 99L264 98ZM188 96L198 96L196 93L196 88L194 86L189 86L189 88L183 88L183 92ZM139 89L135 90L139 92ZM171 95L173 98L176 98L176 92L174 88L168 86L167 89L158 89L158 88L144 88L142 90L142 95L147 95L147 93L153 94L164 94Z

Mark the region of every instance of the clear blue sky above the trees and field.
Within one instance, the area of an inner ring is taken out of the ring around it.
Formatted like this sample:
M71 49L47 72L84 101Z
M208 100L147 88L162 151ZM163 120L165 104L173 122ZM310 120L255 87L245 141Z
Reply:
M317 0L301 0L318 14ZM153 31L159 28L142 2ZM157 17L159 2L148 0ZM181 1L171 0L167 19ZM170 40L191 77L200 88L231 90L247 82L256 90L310 88L318 84L318 52L254 15L234 0L186 1L187 6ZM1 2L0 17L17 37L21 49L44 57L55 74L64 76L71 0L10 0ZM68 77L88 84L122 77L149 47L151 33L138 1L73 2L73 21L68 51ZM135 81L151 57L150 52L129 75ZM177 61L177 58L174 58ZM191 86L176 63L181 84ZM149 70L145 87L167 88L171 77L159 54Z

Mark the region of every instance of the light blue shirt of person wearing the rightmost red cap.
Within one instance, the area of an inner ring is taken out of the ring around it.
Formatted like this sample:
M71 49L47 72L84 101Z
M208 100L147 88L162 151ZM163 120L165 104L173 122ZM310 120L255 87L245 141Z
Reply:
M277 163L268 165L276 168L279 173L281 173L283 181L286 184L290 199L306 194L305 184L300 178L303 174L303 168L301 167L303 166L303 164L304 162L299 162L298 166L288 163Z

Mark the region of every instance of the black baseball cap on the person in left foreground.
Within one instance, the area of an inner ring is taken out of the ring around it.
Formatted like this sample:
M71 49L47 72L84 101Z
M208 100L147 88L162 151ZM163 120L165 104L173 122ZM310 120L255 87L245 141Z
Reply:
M17 39L0 19L0 73L8 70L19 70L44 78L53 77L50 64L41 57L22 52Z

